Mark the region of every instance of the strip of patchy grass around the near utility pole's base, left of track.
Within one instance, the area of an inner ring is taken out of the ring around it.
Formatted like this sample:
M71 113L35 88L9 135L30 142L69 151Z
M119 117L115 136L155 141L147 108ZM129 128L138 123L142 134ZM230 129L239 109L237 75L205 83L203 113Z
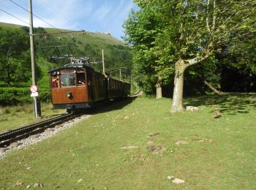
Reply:
M0 107L0 133L66 112L66 110L53 110L52 104L43 102L41 111L42 118L34 118L33 104Z

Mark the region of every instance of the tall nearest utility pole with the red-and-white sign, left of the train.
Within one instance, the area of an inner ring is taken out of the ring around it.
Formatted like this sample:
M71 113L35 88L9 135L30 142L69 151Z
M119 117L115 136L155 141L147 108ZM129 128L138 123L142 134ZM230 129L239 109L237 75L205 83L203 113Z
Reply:
M35 58L34 58L34 36L33 36L33 16L32 16L32 4L29 0L29 36L30 36L30 50L31 50L31 70L32 70L32 85L36 86L36 75L35 75ZM34 117L41 117L41 107L39 99L34 96Z

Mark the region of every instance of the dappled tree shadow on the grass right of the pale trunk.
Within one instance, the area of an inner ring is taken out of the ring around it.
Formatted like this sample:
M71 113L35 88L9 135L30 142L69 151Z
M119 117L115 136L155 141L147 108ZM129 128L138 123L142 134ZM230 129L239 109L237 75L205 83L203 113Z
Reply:
M256 94L228 93L194 96L185 99L184 104L186 106L214 106L215 109L219 108L222 113L236 115L237 113L249 113L250 110L256 108Z

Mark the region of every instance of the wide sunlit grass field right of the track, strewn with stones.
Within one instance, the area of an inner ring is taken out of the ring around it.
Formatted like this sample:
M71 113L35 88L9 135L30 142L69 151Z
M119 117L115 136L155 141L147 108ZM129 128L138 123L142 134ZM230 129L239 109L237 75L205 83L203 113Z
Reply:
M170 114L170 99L113 104L0 159L0 189L17 182L23 185L15 189L256 189L255 94L185 103L199 111ZM222 117L214 119L217 108ZM185 183L173 184L170 175Z

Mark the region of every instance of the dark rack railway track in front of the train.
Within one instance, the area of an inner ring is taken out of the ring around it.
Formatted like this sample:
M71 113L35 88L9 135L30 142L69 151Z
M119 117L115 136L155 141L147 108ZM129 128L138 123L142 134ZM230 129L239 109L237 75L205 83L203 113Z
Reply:
M56 118L50 118L46 121L34 123L29 126L23 126L10 132L4 132L0 134L0 148L5 148L10 145L10 143L17 140L22 140L33 134L39 134L41 132L44 132L45 129L53 128L54 126L59 125L60 123L64 123L65 121L68 121L75 117L78 117L77 113L68 113L58 116Z

